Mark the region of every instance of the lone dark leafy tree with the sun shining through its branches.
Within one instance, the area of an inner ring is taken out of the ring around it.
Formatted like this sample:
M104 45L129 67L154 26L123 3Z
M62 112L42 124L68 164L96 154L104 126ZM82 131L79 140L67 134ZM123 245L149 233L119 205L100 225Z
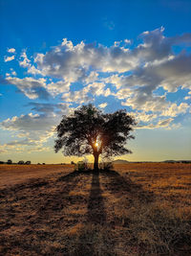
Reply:
M63 149L64 155L93 154L94 168L98 170L98 157L130 153L125 148L135 119L125 109L104 114L94 105L83 105L70 116L64 115L56 127L54 151Z

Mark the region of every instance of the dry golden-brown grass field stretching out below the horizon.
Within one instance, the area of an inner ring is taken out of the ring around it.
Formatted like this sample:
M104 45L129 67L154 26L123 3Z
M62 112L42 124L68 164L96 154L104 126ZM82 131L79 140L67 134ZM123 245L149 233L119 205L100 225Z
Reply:
M191 165L0 166L0 255L191 255Z

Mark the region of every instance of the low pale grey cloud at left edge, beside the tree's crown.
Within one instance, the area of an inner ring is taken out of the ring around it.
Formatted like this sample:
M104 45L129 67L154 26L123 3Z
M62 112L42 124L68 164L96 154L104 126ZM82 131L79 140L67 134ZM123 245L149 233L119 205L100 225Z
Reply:
M7 143L6 147L19 148L29 146L43 147L48 139L55 134L55 127L59 124L63 114L69 114L73 108L69 104L38 104L31 103L32 110L40 113L29 113L21 116L8 118L0 123L0 127L10 131L14 137L20 139Z

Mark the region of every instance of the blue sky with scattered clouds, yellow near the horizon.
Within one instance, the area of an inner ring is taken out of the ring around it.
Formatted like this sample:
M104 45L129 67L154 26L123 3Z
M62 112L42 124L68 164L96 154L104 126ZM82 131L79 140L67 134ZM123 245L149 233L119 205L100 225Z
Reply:
M190 159L190 24L190 0L0 0L0 160L77 161L55 127L88 103L135 117L117 158Z

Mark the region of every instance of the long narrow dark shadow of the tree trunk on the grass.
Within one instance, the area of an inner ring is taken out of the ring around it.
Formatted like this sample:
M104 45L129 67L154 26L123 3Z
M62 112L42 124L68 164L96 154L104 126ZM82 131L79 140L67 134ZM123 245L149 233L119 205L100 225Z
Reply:
M92 188L88 201L88 222L103 224L106 221L105 207L101 194L99 172L93 171Z

